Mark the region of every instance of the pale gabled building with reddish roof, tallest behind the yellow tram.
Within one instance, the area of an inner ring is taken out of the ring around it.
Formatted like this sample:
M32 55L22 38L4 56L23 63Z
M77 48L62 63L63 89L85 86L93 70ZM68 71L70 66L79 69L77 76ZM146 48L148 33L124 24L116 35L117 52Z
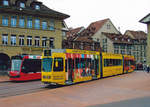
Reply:
M99 42L103 52L113 53L112 41L107 41L107 37L103 33L120 34L110 19L103 19L92 22L87 30L91 32L90 37L93 41Z

